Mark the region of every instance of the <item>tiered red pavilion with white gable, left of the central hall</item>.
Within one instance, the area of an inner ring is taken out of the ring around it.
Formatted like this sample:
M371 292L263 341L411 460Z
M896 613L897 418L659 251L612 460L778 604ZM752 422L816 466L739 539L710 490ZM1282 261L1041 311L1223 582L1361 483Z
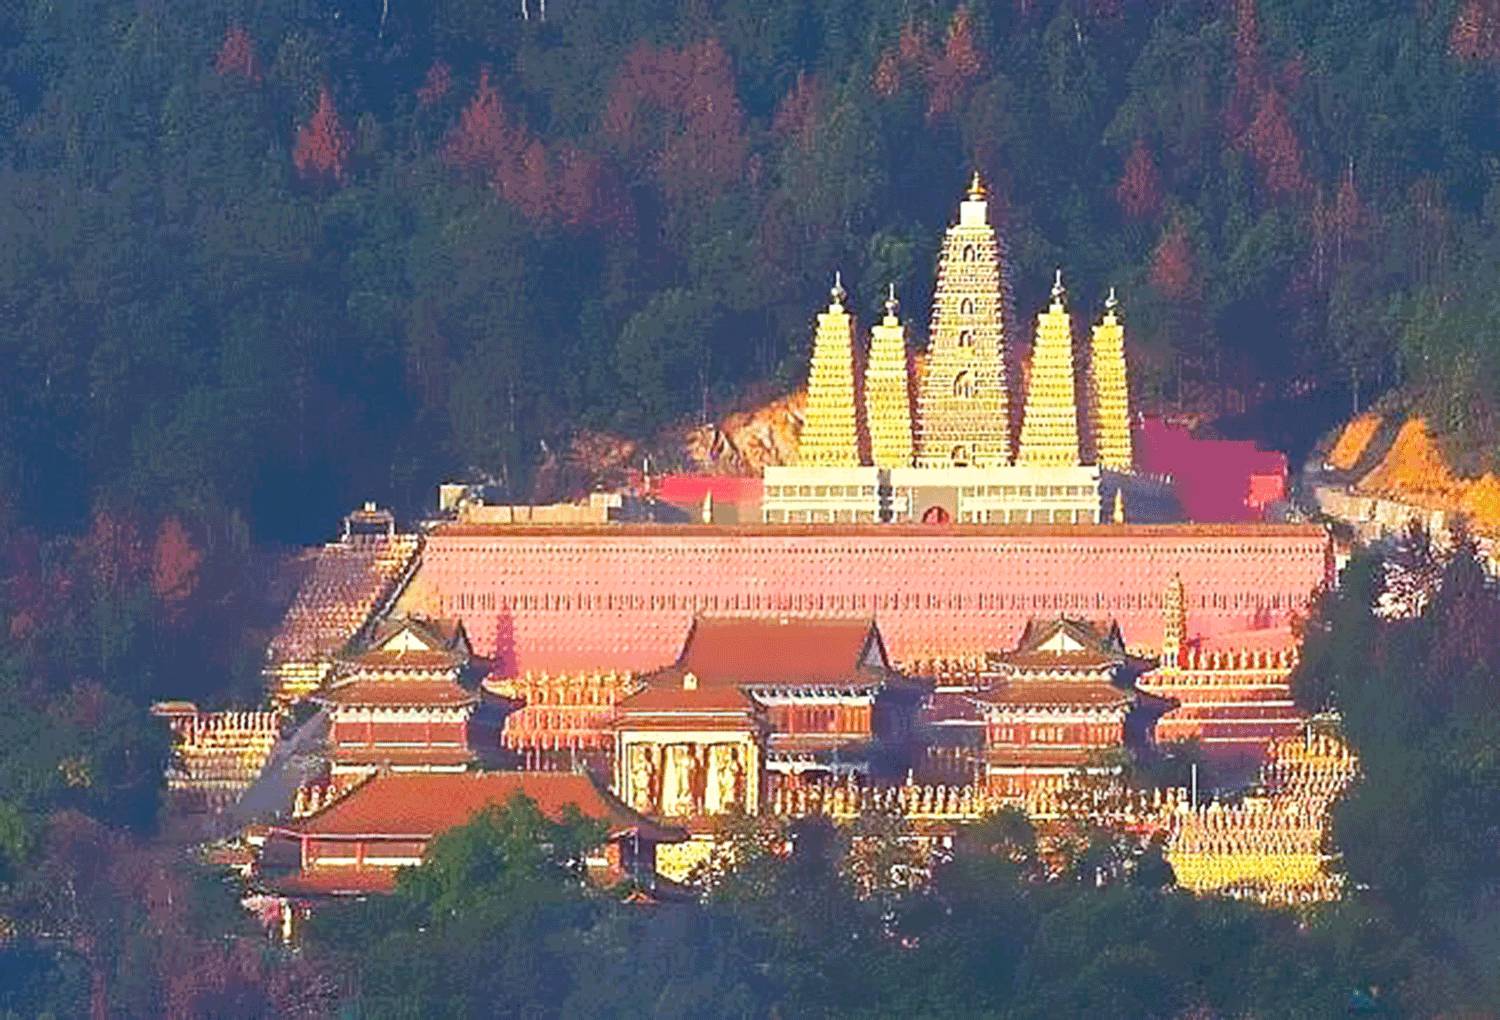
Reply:
M468 662L462 624L406 618L380 627L316 696L328 712L333 776L468 768L468 724L478 704L459 682Z

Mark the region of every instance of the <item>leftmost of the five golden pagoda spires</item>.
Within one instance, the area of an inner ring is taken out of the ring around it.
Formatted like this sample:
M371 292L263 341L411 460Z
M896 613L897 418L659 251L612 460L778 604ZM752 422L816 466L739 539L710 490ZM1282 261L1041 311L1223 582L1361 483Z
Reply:
M854 320L844 310L843 274L834 273L826 312L818 315L813 362L807 376L807 416L798 462L824 468L860 466L860 423L855 406Z

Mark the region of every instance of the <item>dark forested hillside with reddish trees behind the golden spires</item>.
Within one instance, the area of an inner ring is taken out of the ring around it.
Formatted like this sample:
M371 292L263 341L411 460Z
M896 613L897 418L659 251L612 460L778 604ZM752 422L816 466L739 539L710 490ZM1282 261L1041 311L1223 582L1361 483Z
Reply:
M0 8L0 492L321 537L921 326L969 170L1148 399L1500 432L1496 0Z

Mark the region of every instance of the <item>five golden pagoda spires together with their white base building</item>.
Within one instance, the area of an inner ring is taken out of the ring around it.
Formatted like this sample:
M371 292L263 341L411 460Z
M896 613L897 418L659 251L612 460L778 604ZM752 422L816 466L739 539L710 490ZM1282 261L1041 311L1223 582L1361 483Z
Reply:
M1098 524L1122 488L1140 519L1174 519L1167 486L1137 477L1130 440L1125 332L1112 298L1095 328L1080 399L1062 273L1038 315L1020 444L1012 442L1012 321L1004 244L975 176L938 262L927 357L914 384L894 290L872 330L864 400L842 282L819 314L798 462L765 468L768 524ZM910 394L915 390L915 412ZM1095 428L1106 446L1094 456ZM1124 434L1124 438L1122 438ZM1113 477L1106 484L1101 468Z

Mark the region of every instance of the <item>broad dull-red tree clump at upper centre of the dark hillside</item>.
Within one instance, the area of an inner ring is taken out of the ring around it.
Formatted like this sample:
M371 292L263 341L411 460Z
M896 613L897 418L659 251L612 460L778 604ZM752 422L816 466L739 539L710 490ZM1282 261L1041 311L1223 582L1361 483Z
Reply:
M603 126L627 156L651 166L672 198L716 192L744 174L744 112L717 39L632 50L609 90Z

